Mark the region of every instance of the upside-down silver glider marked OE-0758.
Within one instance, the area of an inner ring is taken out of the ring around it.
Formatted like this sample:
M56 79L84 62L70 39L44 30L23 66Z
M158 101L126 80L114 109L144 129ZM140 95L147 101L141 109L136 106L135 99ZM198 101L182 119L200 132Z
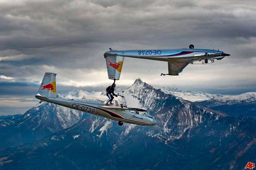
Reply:
M182 49L140 49L117 51L110 48L110 51L104 53L108 78L112 80L119 80L124 57L167 61L168 74L161 75L177 76L188 64L193 64L195 61L200 61L201 64L207 64L213 63L216 60L221 60L225 56L229 56L229 54L214 49L194 49L192 44L189 48Z

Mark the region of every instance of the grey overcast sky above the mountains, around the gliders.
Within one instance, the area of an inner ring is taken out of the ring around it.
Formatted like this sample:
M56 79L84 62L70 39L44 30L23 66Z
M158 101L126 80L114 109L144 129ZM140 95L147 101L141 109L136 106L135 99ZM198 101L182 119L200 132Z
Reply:
M219 49L231 56L188 65L179 76L167 62L125 58L117 85L140 77L155 87L208 93L256 91L256 1L0 0L0 115L24 113L45 72L57 93L104 90L108 48Z

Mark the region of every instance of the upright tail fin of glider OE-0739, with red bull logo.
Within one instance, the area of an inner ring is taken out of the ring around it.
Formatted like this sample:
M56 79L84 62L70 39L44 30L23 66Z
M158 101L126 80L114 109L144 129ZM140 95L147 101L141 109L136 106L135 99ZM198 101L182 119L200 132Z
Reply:
M41 96L56 98L56 75L55 73L45 73L38 93Z

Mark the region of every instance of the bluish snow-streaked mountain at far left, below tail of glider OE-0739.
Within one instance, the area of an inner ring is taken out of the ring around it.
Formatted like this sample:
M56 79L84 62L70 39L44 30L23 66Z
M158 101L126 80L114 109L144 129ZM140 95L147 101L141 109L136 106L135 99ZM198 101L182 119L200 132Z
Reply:
M40 139L74 125L82 117L82 112L51 103L36 105L0 128L0 149Z

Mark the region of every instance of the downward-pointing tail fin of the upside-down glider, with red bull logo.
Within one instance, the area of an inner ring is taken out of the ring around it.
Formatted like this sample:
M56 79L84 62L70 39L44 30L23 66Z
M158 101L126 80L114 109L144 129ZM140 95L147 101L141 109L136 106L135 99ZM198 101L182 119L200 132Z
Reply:
M107 74L109 79L119 80L123 67L123 56L110 55L106 57Z

